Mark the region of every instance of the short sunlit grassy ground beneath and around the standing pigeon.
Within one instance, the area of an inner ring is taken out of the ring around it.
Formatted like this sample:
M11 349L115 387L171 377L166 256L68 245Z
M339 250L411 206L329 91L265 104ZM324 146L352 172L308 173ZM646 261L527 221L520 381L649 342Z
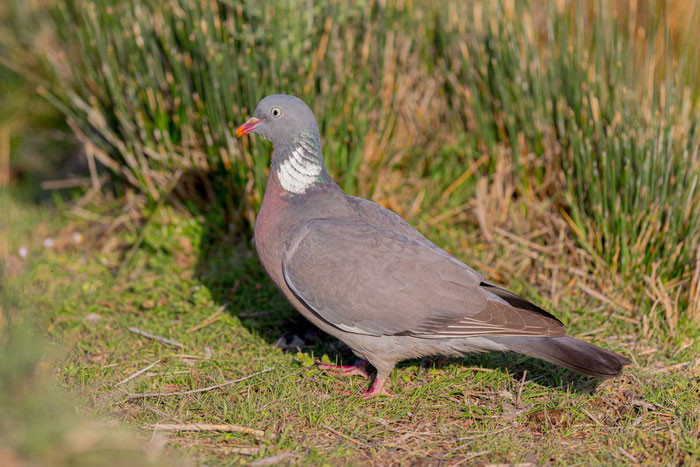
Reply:
M35 333L49 341L39 368L69 394L81 417L107 426L116 421L135 433L150 455L144 462L170 456L207 464L692 464L700 458L697 332L683 330L681 338L645 331L617 298L582 288L584 279L567 272L570 258L547 256L545 245L542 254L525 254L515 235L487 242L464 223L424 230L554 312L570 334L630 357L623 376L600 382L518 355L426 359L393 372L394 397L366 401L359 391L367 381L315 367L354 357L283 299L246 235L212 227L212 217L161 208L120 267L138 228L107 235L98 219L57 215L19 198L8 204L5 291L19 297L18 308L33 310ZM520 240L538 244L529 238ZM17 254L22 246L26 259ZM504 261L516 266L503 272ZM544 266L531 267L538 263L557 268L556 281ZM154 429L192 423L262 433Z

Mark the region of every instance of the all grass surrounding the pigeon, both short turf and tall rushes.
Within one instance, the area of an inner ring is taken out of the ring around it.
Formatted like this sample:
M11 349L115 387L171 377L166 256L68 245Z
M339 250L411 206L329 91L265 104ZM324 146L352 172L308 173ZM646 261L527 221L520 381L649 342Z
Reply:
M0 5L0 464L696 462L698 3L308 5ZM343 394L366 382L314 362L351 353L249 240L269 149L232 130L280 91L312 105L346 190L629 370L429 359L395 398ZM75 140L90 186L46 203Z

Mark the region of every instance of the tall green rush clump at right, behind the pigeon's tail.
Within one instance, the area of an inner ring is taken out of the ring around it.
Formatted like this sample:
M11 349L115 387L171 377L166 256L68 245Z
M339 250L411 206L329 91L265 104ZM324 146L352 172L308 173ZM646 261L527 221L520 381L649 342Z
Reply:
M447 28L436 48L455 110L487 153L507 144L516 165L524 155L561 165L557 177L566 184L559 189L567 191L559 201L579 241L613 273L687 277L700 242L697 34L681 36L676 57L667 14L624 24L605 2L593 10L572 2L562 14L550 3L540 32L523 2L510 15L505 4L478 10L482 17L464 8L460 16L483 24L483 32L460 42ZM493 14L505 19L490 21ZM662 53L625 28L663 38ZM642 57L634 53L640 46ZM663 65L676 74L664 75ZM546 170L535 165L519 183L536 191Z

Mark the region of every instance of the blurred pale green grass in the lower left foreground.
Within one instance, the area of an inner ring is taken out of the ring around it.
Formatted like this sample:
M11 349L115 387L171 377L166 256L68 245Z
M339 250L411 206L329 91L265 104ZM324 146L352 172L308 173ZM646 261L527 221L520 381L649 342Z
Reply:
M12 248L0 263L0 463L3 465L160 465L162 454L134 430L92 411L61 376L70 368L69 347L46 329L57 304L74 291L72 273L46 256L38 238L65 221L46 209L7 196L0 232ZM8 225L7 220L11 220ZM17 250L29 249L26 260ZM79 260L73 252L73 260Z

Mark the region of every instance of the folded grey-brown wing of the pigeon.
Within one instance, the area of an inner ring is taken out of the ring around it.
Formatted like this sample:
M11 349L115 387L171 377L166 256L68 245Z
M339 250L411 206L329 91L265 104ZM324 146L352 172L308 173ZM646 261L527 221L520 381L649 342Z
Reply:
M364 222L314 219L282 259L284 279L310 311L346 332L562 336L554 316L443 250Z

